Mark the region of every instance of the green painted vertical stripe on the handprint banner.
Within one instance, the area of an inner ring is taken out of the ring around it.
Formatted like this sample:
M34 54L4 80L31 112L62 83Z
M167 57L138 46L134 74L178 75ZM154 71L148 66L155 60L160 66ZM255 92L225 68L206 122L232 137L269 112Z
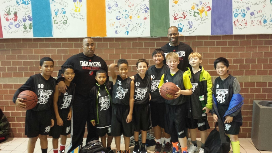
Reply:
M166 36L169 28L169 1L150 0L150 36Z

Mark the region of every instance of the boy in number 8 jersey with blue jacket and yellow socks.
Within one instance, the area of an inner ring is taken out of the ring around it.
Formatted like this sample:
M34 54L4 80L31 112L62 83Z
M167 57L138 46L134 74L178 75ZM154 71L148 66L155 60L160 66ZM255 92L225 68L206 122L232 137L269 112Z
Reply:
M218 119L222 120L225 134L230 137L233 153L239 153L238 134L243 123L241 107L244 103L240 94L240 84L237 78L228 74L230 64L224 57L219 57L214 61L214 68L219 77L214 80L212 88L213 108L217 108L219 114L216 114L214 109L211 113L214 122L217 122Z

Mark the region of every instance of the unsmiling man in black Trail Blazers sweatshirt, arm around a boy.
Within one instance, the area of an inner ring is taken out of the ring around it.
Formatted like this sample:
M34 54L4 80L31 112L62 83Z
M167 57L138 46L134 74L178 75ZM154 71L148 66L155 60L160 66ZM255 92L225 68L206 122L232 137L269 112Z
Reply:
M71 56L64 65L72 65L75 69L75 78L73 82L75 87L75 100L72 105L72 124L71 124L71 145L68 152L73 151L77 146L81 145L85 132L87 121L88 136L86 143L92 138L98 139L98 133L89 120L90 104L88 102L89 91L97 82L95 73L97 70L103 69L108 72L106 62L94 54L95 44L90 37L85 37L82 41L83 53ZM107 74L107 78L109 78ZM58 72L58 87L62 93L66 92L67 87L64 84L64 79L61 77L61 69Z

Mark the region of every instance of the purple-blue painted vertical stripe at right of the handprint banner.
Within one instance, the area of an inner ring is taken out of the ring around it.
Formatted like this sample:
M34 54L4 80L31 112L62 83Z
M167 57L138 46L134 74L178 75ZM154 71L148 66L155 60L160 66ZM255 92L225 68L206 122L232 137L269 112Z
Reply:
M211 35L232 35L232 1L212 0Z

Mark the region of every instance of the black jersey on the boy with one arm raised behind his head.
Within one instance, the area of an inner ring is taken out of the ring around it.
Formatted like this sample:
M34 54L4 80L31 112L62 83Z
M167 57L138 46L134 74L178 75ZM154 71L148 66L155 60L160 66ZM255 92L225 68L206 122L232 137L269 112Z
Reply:
M127 77L122 79L117 75L116 82L113 85L112 103L117 105L129 105L130 83L132 79Z

